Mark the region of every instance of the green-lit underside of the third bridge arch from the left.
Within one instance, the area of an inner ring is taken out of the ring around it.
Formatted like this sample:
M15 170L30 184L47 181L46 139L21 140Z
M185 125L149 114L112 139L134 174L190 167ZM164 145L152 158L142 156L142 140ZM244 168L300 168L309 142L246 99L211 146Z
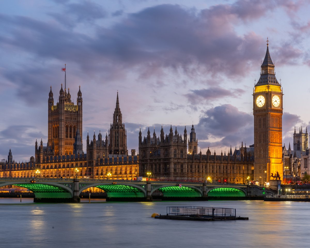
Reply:
M201 197L201 193L194 188L186 186L168 186L158 189L164 197Z

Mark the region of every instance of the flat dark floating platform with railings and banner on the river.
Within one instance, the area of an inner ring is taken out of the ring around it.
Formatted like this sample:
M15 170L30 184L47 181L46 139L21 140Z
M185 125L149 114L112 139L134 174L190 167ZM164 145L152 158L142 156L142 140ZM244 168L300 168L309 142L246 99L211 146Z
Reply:
M154 214L153 214L154 215ZM236 209L223 207L175 206L167 207L166 215L156 215L155 219L179 220L248 220L248 217L236 216Z

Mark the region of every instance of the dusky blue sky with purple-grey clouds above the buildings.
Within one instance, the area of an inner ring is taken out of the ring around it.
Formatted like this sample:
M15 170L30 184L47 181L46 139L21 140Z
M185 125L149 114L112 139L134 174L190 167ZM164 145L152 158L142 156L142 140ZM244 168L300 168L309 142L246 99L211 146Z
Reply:
M266 40L284 97L283 143L309 126L310 5L306 0L15 0L0 3L0 159L47 143L47 99L83 97L87 131L108 131L117 91L127 147L192 124L199 150L253 144L253 87Z

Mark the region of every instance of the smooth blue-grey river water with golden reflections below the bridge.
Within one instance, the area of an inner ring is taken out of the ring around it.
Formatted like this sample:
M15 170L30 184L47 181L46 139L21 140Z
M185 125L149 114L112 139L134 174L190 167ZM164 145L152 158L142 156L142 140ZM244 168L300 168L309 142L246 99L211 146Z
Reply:
M309 202L153 201L33 203L0 198L1 247L306 247ZM167 206L236 208L249 220L151 218Z

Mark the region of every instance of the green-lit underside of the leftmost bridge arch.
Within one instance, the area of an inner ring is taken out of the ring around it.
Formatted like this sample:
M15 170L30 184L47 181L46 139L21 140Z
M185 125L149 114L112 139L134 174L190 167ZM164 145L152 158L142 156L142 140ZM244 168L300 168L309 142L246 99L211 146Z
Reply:
M71 198L70 192L63 188L48 184L12 184L19 187L28 188L36 198Z

